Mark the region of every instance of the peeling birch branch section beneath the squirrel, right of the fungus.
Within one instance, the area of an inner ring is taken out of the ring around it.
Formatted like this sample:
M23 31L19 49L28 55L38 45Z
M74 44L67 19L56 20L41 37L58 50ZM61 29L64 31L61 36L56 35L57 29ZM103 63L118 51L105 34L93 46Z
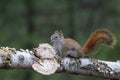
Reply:
M120 62L109 62L96 59L81 58L79 60L64 58L57 72L82 74L105 79L120 79Z

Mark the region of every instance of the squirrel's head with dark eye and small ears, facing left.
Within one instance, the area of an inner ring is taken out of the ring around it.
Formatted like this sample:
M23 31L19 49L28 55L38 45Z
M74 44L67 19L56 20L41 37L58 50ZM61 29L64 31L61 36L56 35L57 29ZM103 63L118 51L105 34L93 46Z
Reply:
M52 43L57 43L57 42L62 41L64 39L63 32L61 30L55 31L54 34L51 35L50 39Z

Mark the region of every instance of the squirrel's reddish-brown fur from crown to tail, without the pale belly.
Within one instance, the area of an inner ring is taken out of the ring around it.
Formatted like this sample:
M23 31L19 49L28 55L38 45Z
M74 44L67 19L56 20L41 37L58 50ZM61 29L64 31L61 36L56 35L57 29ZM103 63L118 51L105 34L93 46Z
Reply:
M81 48L81 46L79 45L79 43L77 43L77 41L71 38L64 39L64 35L62 31L56 31L51 36L51 38L55 39L56 35L60 36L60 40L61 40L61 41L58 40L60 44L55 46L58 49L58 51L61 50L59 46L62 46L61 52L64 52L63 55L65 54L65 56L67 56L66 55L67 51L74 49L77 52L79 58L83 57L84 55L88 55L95 52L99 48L99 45L103 43L111 47L116 43L115 37L107 29L96 30L90 36L90 38L88 39L88 41L86 42L83 48Z

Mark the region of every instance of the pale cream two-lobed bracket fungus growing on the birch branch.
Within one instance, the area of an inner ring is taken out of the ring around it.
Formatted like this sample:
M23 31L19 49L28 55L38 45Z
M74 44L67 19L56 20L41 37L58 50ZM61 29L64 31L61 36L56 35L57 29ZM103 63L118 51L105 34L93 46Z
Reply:
M32 65L32 68L38 73L50 75L60 67L56 60L55 50L51 45L40 44L38 48L34 48L34 53L39 60Z

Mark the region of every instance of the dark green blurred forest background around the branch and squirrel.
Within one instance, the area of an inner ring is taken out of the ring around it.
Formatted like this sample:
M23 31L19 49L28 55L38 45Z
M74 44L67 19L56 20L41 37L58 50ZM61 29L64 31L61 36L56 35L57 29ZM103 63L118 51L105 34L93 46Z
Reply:
M0 0L0 46L32 49L50 43L55 30L83 46L98 28L110 29L114 48L102 46L97 59L120 59L120 0ZM65 73L44 76L33 70L0 70L0 80L102 80ZM104 79L103 79L104 80Z

